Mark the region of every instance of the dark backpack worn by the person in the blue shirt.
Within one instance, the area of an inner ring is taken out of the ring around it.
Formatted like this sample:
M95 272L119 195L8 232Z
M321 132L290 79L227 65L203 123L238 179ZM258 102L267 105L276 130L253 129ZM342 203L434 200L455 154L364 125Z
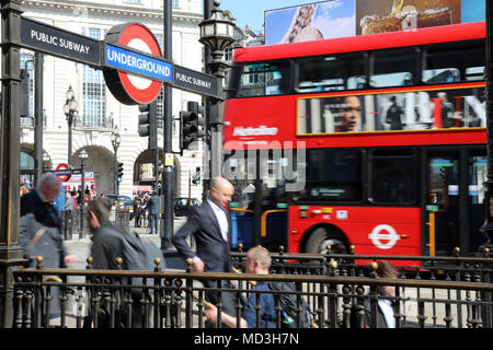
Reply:
M297 328L297 295L295 283L287 282L268 282L268 288L272 291L278 291L279 293L279 306L283 308L282 328ZM311 328L311 317L308 303L305 298L300 298L299 313L300 328Z

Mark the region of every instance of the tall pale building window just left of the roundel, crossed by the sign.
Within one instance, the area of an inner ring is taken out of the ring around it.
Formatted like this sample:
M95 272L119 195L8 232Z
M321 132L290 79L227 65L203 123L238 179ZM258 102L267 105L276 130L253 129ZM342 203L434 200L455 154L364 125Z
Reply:
M104 31L99 28L83 28L82 35L102 39ZM81 122L85 127L107 127L106 120L106 83L103 72L89 66L82 71L82 108ZM111 121L110 121L111 122Z

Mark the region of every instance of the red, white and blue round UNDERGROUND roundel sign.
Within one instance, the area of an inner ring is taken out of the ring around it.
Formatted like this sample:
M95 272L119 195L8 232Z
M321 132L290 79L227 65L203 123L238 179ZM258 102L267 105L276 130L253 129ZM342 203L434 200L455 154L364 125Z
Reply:
M159 95L163 81L172 82L172 63L161 58L158 40L140 23L113 26L104 51L106 85L123 104L148 104Z

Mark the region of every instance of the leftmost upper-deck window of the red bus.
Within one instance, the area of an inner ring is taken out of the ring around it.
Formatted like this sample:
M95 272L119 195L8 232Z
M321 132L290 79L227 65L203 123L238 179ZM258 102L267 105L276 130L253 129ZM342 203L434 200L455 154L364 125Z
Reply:
M245 65L238 84L237 97L286 94L289 92L289 62Z

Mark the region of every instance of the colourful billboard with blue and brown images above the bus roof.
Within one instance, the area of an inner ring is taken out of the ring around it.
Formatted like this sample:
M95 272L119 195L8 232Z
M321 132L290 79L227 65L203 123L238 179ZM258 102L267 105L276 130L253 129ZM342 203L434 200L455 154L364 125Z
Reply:
M330 0L265 11L265 44L485 21L485 0Z

